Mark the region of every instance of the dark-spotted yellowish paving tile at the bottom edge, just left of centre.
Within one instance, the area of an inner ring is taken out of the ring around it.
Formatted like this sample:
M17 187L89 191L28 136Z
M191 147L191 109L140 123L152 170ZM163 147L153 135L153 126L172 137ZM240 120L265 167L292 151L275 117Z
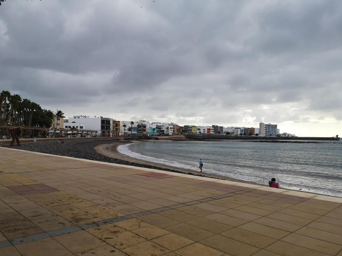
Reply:
M122 251L130 256L161 256L169 252L166 248L150 241L126 247Z

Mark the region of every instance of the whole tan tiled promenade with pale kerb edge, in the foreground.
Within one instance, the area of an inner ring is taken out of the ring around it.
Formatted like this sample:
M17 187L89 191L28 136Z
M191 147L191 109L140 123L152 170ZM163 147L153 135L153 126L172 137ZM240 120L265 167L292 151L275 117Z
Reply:
M1 256L341 256L341 203L0 148Z

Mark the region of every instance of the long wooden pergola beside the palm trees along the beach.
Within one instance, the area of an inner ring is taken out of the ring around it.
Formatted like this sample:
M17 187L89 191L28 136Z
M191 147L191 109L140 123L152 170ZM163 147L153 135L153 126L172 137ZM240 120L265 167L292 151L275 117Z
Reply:
M35 127L35 126L17 126L17 125L0 125L0 129L8 129L11 134L12 141L10 146L14 145L16 141L19 146L21 146L18 131L30 131L30 135L32 131L40 131L38 134L41 134L42 131L46 131L48 138L56 138L57 133L58 137L67 138L70 136L71 138L75 137L95 137L97 135L96 130L85 130L85 129L65 129L65 128L54 128L54 127ZM53 134L50 135L50 131L53 131ZM64 136L63 136L64 133ZM25 137L25 136L24 136ZM38 136L39 137L39 136Z

